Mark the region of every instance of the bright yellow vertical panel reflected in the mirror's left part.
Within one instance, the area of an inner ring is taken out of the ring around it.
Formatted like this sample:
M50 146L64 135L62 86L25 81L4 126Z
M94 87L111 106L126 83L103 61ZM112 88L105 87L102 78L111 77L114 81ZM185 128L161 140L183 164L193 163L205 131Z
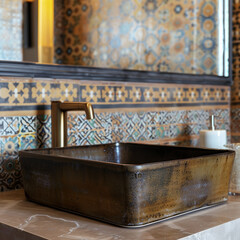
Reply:
M38 61L53 62L54 0L38 0Z

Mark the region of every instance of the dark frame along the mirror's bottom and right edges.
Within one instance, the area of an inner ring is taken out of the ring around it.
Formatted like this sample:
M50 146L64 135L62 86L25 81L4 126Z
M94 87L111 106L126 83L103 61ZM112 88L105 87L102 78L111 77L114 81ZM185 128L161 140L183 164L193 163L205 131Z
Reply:
M0 77L53 78L92 81L121 81L175 84L232 84L232 1L229 0L229 76L138 71L74 65L0 61Z

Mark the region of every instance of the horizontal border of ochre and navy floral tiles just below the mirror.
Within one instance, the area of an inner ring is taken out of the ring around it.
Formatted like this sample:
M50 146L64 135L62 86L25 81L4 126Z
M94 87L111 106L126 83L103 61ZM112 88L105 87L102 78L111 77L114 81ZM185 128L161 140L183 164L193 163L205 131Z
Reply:
M49 110L52 100L90 102L98 109L142 108L197 105L226 105L229 87L180 84L113 83L32 79L0 79L1 114L13 111ZM21 131L31 131L29 121L23 120ZM4 131L12 126L0 119Z

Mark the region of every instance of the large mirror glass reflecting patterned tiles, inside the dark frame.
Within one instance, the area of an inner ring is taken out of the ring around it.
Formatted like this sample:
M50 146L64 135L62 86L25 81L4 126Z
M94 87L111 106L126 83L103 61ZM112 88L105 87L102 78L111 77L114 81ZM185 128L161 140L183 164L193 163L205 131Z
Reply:
M50 0L38 4L41 1ZM26 19L22 0L7 2L0 5L0 22L5 26L0 60L29 61L21 55L29 50L21 47L21 23ZM55 64L229 77L230 2L55 0L54 46L43 46L40 52L48 57L40 62L51 62L50 56ZM11 14L2 14L10 10ZM37 31L39 24L32 21L31 29ZM39 48L37 54L28 55L36 62Z

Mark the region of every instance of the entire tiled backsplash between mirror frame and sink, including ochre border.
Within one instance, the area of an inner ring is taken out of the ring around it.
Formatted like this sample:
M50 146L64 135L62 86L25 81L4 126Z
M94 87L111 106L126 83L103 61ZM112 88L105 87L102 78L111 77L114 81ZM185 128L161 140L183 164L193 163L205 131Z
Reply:
M18 151L51 147L50 101L88 101L96 117L68 117L69 144L153 141L197 145L218 116L230 129L230 87L0 77L0 191L22 187Z

